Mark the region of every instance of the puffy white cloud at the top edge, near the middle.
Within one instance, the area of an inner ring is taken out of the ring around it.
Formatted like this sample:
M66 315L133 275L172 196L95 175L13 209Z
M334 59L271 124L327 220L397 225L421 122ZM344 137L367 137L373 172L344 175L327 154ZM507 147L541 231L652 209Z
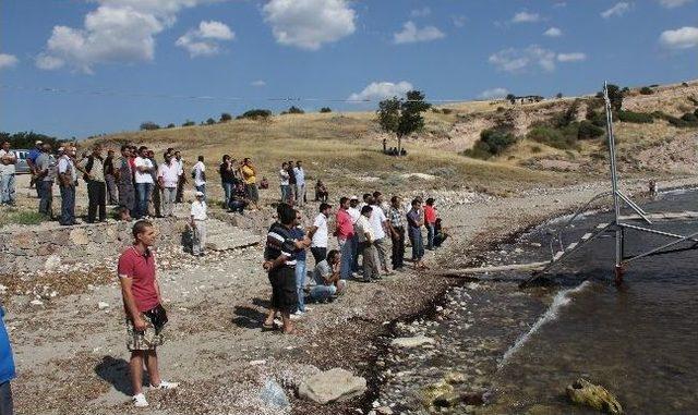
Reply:
M277 42L301 49L317 50L356 30L346 0L272 0L262 11Z

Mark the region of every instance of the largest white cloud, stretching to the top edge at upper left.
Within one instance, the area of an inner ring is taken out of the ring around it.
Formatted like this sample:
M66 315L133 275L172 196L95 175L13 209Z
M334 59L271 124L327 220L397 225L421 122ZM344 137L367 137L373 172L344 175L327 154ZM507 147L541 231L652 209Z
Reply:
M202 1L96 0L99 5L85 15L83 27L53 26L36 65L92 73L95 64L152 61L155 36L176 22L179 11Z

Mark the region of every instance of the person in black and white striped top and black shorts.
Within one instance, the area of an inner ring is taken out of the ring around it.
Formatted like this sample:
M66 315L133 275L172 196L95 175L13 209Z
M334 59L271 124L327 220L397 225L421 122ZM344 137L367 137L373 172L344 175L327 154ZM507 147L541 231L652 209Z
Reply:
M281 313L284 333L294 332L290 315L296 312L298 293L296 291L296 259L293 252L310 243L308 236L302 242L294 241L290 230L296 221L296 210L281 204L277 208L278 221L269 228L264 249L264 269L272 284L272 306L263 324L263 329L273 330L276 313Z

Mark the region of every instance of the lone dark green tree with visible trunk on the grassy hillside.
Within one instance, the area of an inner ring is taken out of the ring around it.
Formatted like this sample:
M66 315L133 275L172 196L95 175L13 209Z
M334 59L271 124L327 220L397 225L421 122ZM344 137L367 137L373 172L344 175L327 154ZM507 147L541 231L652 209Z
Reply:
M432 107L424 98L424 93L410 90L407 99L393 97L378 103L378 124L383 131L397 136L398 155L402 152L402 137L424 127L422 112Z

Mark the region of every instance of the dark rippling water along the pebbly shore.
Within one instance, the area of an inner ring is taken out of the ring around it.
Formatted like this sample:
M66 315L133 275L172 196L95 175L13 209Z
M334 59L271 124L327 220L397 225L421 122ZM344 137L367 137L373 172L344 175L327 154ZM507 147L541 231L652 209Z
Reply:
M645 207L698 210L698 195L676 192ZM583 218L566 242L609 219L607 213ZM500 260L544 258L550 227L558 225L543 225L505 246L508 254ZM690 233L698 223L654 229ZM635 231L626 235L629 253L669 241ZM614 239L601 237L559 271L554 286L521 291L492 282L453 290L446 315L419 325L440 346L389 358L393 373L407 375L388 376L382 398L399 401L406 412L423 412L414 398L420 388L456 370L466 378L457 389L486 390L490 402L455 413L594 413L573 406L564 394L579 377L606 387L627 413L698 413L698 251L640 259L628 267L622 289L613 284L613 257Z

